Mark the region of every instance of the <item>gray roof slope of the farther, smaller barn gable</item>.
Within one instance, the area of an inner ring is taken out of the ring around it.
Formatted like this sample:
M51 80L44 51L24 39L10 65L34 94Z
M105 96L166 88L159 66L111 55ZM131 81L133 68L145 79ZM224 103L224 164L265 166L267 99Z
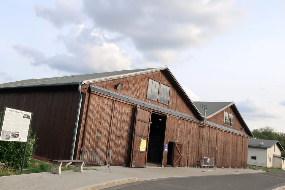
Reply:
M226 109L227 107L233 105L233 102L199 102L193 101L193 104L197 107L199 112L204 116L204 107L201 105L205 105L207 107L207 117L210 118L213 115L216 115L220 111Z

